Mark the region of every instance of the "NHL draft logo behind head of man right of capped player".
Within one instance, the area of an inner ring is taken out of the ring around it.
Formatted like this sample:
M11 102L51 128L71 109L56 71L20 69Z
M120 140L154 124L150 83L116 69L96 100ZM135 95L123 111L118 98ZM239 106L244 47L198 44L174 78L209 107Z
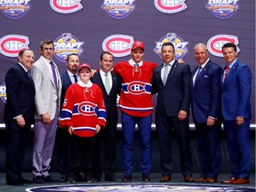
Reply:
M177 36L175 33L167 33L166 36L163 36L158 42L156 42L156 47L154 52L162 58L161 47L165 42L171 42L175 47L175 59L180 60L188 52L187 44L180 36Z

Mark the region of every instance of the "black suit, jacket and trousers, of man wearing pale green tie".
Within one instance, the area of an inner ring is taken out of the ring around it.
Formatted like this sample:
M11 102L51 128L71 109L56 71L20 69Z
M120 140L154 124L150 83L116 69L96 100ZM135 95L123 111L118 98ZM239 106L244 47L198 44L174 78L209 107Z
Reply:
M117 94L121 91L122 80L119 76L111 73L112 87L109 94L105 90L105 86L100 77L100 72L97 72L92 77L92 83L98 84L103 93L103 99L107 112L106 127L101 130L95 139L94 155L93 155L93 176L95 179L100 180L102 175L101 160L100 160L100 143L104 140L104 172L105 179L114 178L116 172L116 125L118 120L118 110L116 106Z

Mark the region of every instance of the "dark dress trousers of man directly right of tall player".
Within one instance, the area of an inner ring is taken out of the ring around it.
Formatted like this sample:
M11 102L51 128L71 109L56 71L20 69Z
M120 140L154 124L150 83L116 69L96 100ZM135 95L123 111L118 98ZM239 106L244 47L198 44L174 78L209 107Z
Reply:
M188 118L179 121L177 116L156 117L156 132L158 135L161 156L162 175L172 174L172 128L176 133L180 149L180 167L184 177L192 175L192 157L189 142Z

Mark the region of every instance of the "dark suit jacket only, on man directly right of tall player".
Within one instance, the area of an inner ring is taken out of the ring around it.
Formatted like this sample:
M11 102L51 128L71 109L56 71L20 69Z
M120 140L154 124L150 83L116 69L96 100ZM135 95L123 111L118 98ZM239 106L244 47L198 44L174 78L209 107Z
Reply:
M189 112L190 67L175 60L164 86L161 78L163 65L154 69L153 93L157 92L156 117L164 116L164 110L168 116L178 116L180 110Z

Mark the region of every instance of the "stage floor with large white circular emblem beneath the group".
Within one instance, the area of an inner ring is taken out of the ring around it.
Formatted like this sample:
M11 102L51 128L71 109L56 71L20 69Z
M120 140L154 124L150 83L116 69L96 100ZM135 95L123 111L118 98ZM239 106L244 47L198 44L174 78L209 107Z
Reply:
M54 172L51 174L53 179L59 179L59 173ZM194 173L193 177L196 179L199 173ZM27 172L23 174L26 179L31 179L31 173ZM183 177L180 173L172 173L172 181L169 182L159 182L161 178L160 173L152 173L150 182L142 182L141 174L135 172L132 174L131 182L122 182L123 173L116 173L116 182L105 182L100 181L93 184L88 184L85 182L77 182L76 184L68 184L61 182L54 183L43 183L43 184L26 184L24 186L8 186L5 182L5 174L0 173L0 191L12 191L12 192L22 192L22 191L36 191L36 192L46 192L46 191L244 191L251 192L255 190L255 174L251 174L251 183L245 185L223 185L221 180L226 180L229 178L228 173L220 173L220 176L215 183L203 184L203 183L188 183L183 181Z

